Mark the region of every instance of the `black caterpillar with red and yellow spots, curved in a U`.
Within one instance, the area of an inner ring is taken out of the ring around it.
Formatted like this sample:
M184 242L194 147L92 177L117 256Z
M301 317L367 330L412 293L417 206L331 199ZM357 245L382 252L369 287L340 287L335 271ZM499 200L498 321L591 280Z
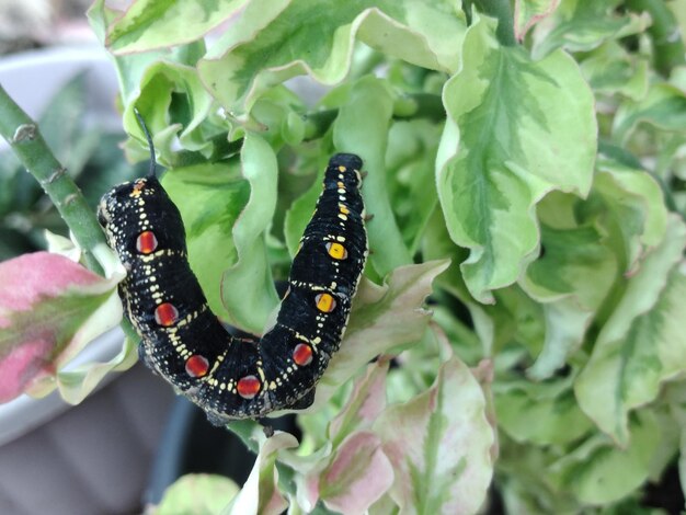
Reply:
M140 356L210 422L312 403L339 350L367 256L361 169L352 153L329 161L276 324L261 339L231 336L209 310L188 266L181 215L153 162L147 178L101 199L98 218L127 270L119 296L141 337Z

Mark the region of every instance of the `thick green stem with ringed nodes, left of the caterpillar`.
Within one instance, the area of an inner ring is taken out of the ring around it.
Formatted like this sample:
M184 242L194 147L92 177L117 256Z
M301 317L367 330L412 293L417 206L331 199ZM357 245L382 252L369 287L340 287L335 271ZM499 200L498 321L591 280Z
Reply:
M43 139L37 124L16 105L2 87L0 87L0 134L57 207L79 247L83 249L88 267L102 275L103 270L92 251L95 245L106 244L105 234L81 191L67 174L67 169L57 161Z

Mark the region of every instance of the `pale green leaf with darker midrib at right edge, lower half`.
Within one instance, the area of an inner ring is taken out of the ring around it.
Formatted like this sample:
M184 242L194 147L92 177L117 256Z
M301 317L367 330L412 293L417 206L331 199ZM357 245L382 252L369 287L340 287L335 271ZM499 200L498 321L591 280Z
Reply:
M629 281L576 379L579 404L619 445L628 444L628 414L686 373L686 226L670 218L667 234ZM679 265L679 263L682 263Z

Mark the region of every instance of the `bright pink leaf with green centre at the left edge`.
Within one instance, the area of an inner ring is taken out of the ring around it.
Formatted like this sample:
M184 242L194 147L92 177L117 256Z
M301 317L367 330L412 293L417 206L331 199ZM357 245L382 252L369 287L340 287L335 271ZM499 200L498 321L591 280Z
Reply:
M0 263L0 402L45 394L59 367L122 318L116 279L47 252Z

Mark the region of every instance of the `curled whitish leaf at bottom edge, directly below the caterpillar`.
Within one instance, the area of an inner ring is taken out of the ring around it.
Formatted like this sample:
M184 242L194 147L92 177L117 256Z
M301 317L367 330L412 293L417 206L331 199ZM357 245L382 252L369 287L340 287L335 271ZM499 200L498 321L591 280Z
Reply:
M225 510L226 515L279 515L288 507L288 502L278 491L275 462L279 450L297 447L298 440L281 431L268 438L262 436L261 439L260 453L250 477Z

